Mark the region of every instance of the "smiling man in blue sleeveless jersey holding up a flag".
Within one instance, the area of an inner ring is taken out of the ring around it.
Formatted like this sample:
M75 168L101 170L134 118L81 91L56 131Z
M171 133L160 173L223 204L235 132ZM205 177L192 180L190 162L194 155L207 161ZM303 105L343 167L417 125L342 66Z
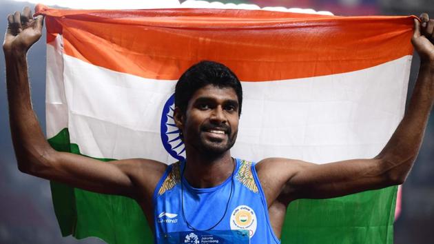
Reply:
M43 17L33 19L25 8L8 16L3 43L10 127L19 170L135 199L158 243L177 243L176 233L187 231L192 232L188 241L205 231L220 236L216 238L279 243L291 201L379 189L406 178L434 101L434 20L427 14L421 19L422 23L415 20L412 43L422 62L409 110L375 158L324 165L293 159L264 159L253 165L233 159L230 148L236 141L242 105L240 83L225 65L205 61L189 68L176 85L174 120L187 160L167 166L147 159L103 163L50 147L32 111L25 59L41 36ZM174 214L182 216L176 223L171 221Z

